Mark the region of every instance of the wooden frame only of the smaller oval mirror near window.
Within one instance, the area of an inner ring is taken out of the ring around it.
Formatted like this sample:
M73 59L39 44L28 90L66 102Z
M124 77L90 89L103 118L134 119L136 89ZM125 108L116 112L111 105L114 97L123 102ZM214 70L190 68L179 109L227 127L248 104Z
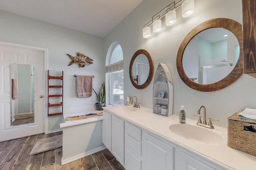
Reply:
M138 57L138 55L140 55L140 54L145 55L146 58L148 59L148 63L149 63L148 78L147 78L146 81L145 81L143 84L141 84L141 85L139 85L139 84L138 84L138 80L135 81L135 80L134 80L134 77L132 76L132 67L133 67L133 64L134 64L134 60L135 60L136 57ZM150 84L150 82L151 82L151 80L152 80L153 72L154 72L154 63L153 63L152 58L151 58L150 54L148 53L148 51L146 51L146 50L144 50L144 49L140 49L140 50L136 51L136 52L134 53L134 55L132 56L132 59L131 59L131 62L130 62L130 68L129 68L130 80L131 80L131 82L132 82L132 85L133 85L135 88L137 88L137 89L144 89L144 88L146 88L146 87Z

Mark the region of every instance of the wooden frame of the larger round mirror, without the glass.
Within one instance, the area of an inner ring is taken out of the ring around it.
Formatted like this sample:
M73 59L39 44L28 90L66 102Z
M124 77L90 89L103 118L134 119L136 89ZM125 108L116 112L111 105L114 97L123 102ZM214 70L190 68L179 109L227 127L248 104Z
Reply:
M234 66L234 69L222 80L212 83L212 84L198 84L186 75L184 72L184 68L182 65L182 59L183 59L183 53L186 49L186 46L190 42L190 40L196 36L201 31L204 31L208 28L214 28L214 27L222 27L224 29L227 29L231 31L237 38L240 46L240 53L239 58ZM237 21L228 19L228 18L216 18L212 20L205 21L198 26L196 26L194 29L192 29L188 35L183 39L180 48L178 49L177 59L176 59L176 66L178 70L178 74L182 81L189 86L190 88L201 91L201 92L212 92L216 90L220 90L223 88L226 88L227 86L230 86L232 83L234 83L240 76L243 74L243 41L242 41L242 25L238 23Z

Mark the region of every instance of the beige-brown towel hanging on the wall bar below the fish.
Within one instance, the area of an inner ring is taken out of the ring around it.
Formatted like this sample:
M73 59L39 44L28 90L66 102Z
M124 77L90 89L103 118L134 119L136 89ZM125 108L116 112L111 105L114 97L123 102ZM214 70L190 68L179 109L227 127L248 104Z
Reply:
M78 98L92 96L92 78L93 76L76 76Z

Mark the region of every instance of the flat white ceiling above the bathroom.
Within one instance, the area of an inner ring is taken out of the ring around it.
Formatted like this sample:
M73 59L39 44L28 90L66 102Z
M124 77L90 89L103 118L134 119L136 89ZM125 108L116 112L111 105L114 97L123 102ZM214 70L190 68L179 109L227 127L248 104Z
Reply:
M143 0L0 0L0 10L105 37Z

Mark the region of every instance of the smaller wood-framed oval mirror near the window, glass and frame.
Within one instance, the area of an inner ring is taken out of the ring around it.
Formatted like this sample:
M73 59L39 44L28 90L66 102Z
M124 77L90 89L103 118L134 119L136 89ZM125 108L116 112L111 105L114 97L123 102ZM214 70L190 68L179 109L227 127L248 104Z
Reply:
M150 84L154 64L148 51L140 49L134 53L130 62L130 80L137 89L144 89Z

